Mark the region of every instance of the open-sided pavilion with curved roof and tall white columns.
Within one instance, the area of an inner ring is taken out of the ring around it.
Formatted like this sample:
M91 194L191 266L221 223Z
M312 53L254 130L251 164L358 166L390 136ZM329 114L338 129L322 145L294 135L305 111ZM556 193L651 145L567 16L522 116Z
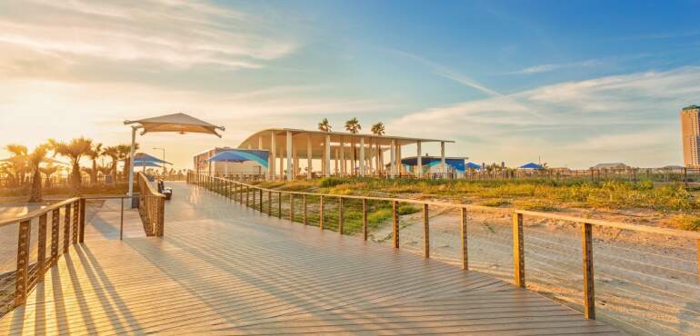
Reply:
M395 177L408 173L405 165L399 164L403 157L402 147L415 145L416 164L421 164L423 143L440 144L437 169L442 176L447 176L445 143L454 143L451 140L274 128L251 134L237 149L267 151L267 167L261 165L260 173L270 180L327 176ZM222 150L225 148L215 148L195 156L195 171L208 173L203 162ZM240 167L243 169L244 166ZM221 168L215 168L213 173L217 172L221 172ZM416 171L416 177L423 177L422 172Z

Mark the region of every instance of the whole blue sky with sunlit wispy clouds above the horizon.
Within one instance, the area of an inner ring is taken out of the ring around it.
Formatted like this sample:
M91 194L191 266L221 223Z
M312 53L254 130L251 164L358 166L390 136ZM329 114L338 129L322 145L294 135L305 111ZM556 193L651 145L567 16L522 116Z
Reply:
M680 164L678 113L700 104L697 13L699 1L5 0L0 146L128 143L124 120L182 112L226 131L138 138L176 168L324 117L455 140L447 154L476 163Z

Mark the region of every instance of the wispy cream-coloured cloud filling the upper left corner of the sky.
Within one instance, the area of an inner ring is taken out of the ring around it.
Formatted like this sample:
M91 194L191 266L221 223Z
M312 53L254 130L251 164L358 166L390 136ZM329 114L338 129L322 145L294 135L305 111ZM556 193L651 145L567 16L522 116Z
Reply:
M0 72L12 75L27 61L53 70L87 61L258 68L297 47L255 16L184 0L9 1L0 32Z

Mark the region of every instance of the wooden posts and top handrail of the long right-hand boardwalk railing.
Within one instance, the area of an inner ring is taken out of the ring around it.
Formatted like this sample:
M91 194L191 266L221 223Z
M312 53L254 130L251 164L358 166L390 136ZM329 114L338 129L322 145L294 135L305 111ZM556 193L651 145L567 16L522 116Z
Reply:
M456 208L460 211L460 254L462 260L462 268L464 270L469 269L468 255L467 255L467 231L466 231L466 216L469 210L473 211L488 211L493 212L494 209L485 206L471 205L471 204L459 204L459 203L445 203L445 202L427 202L421 200L411 200L411 199L399 199L399 198L388 198L388 197L373 197L373 196L355 196L355 195L337 195L328 193L305 193L305 192L292 192L292 191L279 191L273 189L267 189L255 186L253 184L242 183L232 180L226 180L218 177L190 173L187 176L187 183L193 183L198 186L205 187L206 189L221 193L225 197L232 199L238 203L245 204L245 206L252 207L259 212L263 212L263 203L265 202L265 195L267 201L267 214L273 215L273 202L277 199L277 217L282 217L282 202L283 194L288 195L290 200L290 218L294 219L295 206L294 198L302 197L302 221L304 224L307 223L307 211L308 203L306 202L307 196L315 196L319 198L319 228L324 230L324 203L327 199L337 199L338 200L338 226L337 231L340 234L344 233L343 223L344 223L344 200L361 200L363 207L363 237L365 241L367 240L367 202L368 201L381 201L389 202L392 204L392 244L394 248L399 248L400 242L400 225L399 225L399 213L398 207L399 203L413 203L422 205L423 208L423 225L424 225L424 255L425 258L430 257L430 220L429 220L429 207L439 206L445 208ZM251 196L252 195L252 201ZM537 217L537 218L548 218L557 221L564 222L575 222L581 224L581 242L582 242L582 266L584 275L584 315L586 319L595 319L595 292L594 292L594 263L593 263L593 233L592 225L617 228L622 230L629 230L633 232L651 232L657 234L664 234L667 236L683 237L685 239L692 239L696 242L697 247L697 258L698 267L700 268L700 232L689 232L681 230L673 230L666 228L657 228L644 225L635 225L624 222L608 222L587 218L579 218L573 216L565 216L554 213L546 212L532 212L525 210L514 210L513 211L513 261L514 261L514 282L518 287L525 288L525 245L524 245L524 233L523 233L523 222L525 216ZM698 282L700 282L700 269L698 270Z

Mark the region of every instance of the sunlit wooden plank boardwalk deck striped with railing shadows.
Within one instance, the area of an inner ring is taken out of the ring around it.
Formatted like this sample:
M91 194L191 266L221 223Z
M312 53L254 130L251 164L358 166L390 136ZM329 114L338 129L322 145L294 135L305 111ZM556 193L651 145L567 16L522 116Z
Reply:
M78 245L0 334L618 333L478 272L170 184L165 239Z

